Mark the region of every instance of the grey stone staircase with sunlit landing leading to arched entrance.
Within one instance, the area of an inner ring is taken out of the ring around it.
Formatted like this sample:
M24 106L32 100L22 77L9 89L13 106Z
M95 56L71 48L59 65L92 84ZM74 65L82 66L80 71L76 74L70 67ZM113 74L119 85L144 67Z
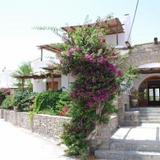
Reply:
M134 109L135 110L135 109ZM141 126L121 127L95 151L103 160L160 160L160 108L139 108Z

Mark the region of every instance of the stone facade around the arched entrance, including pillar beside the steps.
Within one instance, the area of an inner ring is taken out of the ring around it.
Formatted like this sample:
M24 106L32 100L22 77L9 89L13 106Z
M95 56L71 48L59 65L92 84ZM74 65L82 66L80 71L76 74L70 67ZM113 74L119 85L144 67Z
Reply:
M128 53L127 63L125 67L132 65L138 68L144 64L160 63L160 43L146 43L133 46ZM127 65L128 64L128 65ZM134 80L132 87L139 89L141 83L149 77L160 77L160 73L139 74ZM128 98L127 98L128 97ZM129 111L130 100L128 95L121 95L118 98L118 115L120 125L139 125L139 115L137 112ZM127 110L126 110L127 109Z

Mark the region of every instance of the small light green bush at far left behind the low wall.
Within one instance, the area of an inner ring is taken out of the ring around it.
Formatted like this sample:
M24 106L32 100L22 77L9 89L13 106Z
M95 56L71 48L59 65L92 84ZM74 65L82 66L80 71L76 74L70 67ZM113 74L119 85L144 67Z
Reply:
M13 109L14 106L14 97L12 95L6 96L2 102L3 109Z

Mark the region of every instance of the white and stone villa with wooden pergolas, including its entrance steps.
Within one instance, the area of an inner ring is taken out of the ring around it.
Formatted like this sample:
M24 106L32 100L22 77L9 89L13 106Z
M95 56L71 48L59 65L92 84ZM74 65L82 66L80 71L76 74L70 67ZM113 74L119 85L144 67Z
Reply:
M117 99L118 114L111 116L107 125L100 126L99 133L92 138L91 146L95 150L96 157L101 159L158 160L160 159L160 43L154 38L151 43L133 46L131 39L128 40L130 31L128 15L123 23L115 18L105 22L105 25L107 29L109 28L109 34L106 35L107 43L117 48L120 54L126 54L128 56L126 66L133 65L139 74L128 91ZM71 32L75 27L62 29ZM53 44L41 45L39 48L41 58L32 63L33 70L38 72L40 68L48 71L51 68L45 61L45 52L51 51L58 57L60 50ZM52 74L47 78L43 75L30 76L34 92L68 89L70 83L74 81L71 75ZM149 128L147 125L142 127L143 133L142 128L137 127L141 123L149 123ZM118 129L119 127L122 128Z

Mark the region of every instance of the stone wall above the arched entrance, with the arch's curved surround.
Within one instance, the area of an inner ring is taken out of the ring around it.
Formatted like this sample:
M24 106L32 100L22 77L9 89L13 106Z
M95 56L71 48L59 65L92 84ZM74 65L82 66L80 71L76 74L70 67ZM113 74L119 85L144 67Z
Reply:
M146 43L135 45L128 53L126 64L133 65L138 68L141 65L149 63L160 63L160 43ZM128 66L126 65L126 66ZM138 90L139 85L146 79L152 76L160 76L159 73L154 74L139 74L134 81L133 87Z

